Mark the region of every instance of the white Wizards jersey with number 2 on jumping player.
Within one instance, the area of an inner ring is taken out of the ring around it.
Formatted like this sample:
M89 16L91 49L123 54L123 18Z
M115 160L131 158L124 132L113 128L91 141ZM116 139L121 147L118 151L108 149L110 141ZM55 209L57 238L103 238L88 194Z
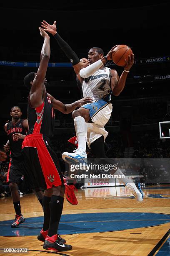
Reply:
M82 82L83 97L90 97L92 100L111 100L110 68L98 69L92 76Z

